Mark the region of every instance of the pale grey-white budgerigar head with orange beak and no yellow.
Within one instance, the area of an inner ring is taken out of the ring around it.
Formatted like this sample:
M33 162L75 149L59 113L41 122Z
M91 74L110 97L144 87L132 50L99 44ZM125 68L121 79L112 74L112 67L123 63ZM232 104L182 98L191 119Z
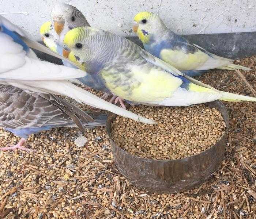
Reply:
M66 34L76 27L89 26L86 18L76 7L59 3L54 6L51 14L55 32Z

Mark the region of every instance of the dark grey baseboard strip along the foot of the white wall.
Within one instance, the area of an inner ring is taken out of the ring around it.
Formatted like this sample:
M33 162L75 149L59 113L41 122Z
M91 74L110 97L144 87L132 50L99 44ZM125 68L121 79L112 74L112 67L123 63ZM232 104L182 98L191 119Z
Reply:
M186 39L203 47L207 51L225 58L240 59L256 55L256 32L240 32L227 34L195 34L184 35ZM127 37L127 39L142 46L138 37ZM42 43L42 41L40 41ZM61 64L57 58L35 51L38 57L49 62Z

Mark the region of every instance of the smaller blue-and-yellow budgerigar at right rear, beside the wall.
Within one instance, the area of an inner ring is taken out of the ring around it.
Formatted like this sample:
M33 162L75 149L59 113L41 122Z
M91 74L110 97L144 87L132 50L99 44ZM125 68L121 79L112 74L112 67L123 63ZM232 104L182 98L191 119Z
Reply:
M152 12L137 14L134 17L133 31L137 33L146 51L191 77L215 68L251 70L233 64L232 59L209 53L175 34Z

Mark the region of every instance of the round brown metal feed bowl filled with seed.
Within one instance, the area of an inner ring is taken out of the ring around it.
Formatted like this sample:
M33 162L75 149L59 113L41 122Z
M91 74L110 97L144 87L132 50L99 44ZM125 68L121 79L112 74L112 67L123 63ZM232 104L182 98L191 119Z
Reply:
M229 116L221 101L206 103L221 112L226 131L220 141L200 154L180 160L150 160L127 153L118 147L111 137L112 121L116 114L108 115L106 130L112 146L114 162L120 173L129 182L149 192L177 193L195 188L207 181L222 162Z

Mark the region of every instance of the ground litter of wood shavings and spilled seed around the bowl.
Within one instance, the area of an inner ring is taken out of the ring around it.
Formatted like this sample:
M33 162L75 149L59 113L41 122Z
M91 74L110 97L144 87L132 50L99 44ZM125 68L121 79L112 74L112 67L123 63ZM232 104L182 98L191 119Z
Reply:
M256 57L237 62L252 69L255 63ZM241 73L256 89L256 73ZM253 96L235 71L212 70L199 80L222 91ZM27 147L36 153L0 152L0 218L255 219L256 104L223 103L230 115L224 160L201 186L177 194L148 193L121 176L104 127L84 134L59 128L29 137ZM74 141L81 135L88 142L77 147ZM18 140L0 130L0 146Z

